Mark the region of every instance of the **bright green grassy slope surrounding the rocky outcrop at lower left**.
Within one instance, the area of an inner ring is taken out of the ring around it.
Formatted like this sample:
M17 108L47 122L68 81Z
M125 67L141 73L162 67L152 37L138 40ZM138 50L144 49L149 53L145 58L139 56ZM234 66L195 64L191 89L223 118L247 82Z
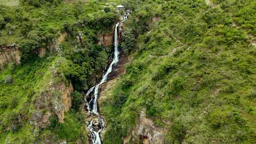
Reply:
M63 57L48 57L36 63L20 65L13 72L8 69L1 72L0 118L3 123L0 128L4 130L4 127L10 127L11 129L1 132L0 144L4 144L4 142L9 142L9 144L30 144L40 139L40 141L47 139L47 135L55 135L55 138L65 138L69 142L76 141L81 137L86 139L84 124L81 122L81 114L67 113L64 124L52 124L52 126L44 130L30 126L25 118L29 116L29 112L34 110L31 100L36 99L40 91L48 90L50 81L54 83L67 81L61 77L52 78L52 67L55 67L57 72L63 72L65 69L70 69L70 63ZM4 83L6 75L12 76L12 83ZM17 114L21 116L21 121L19 122L21 125L12 123L12 115Z

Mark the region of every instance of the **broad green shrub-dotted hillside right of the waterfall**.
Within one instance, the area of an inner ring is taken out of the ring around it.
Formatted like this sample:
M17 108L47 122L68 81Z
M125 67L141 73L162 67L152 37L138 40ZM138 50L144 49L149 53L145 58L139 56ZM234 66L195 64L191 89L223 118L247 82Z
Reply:
M136 2L137 23L160 21L138 36L134 60L103 103L111 127L104 142L120 144L146 108L171 143L255 144L256 49L247 32L256 27L255 14L246 11L256 3ZM126 27L137 29L129 21Z

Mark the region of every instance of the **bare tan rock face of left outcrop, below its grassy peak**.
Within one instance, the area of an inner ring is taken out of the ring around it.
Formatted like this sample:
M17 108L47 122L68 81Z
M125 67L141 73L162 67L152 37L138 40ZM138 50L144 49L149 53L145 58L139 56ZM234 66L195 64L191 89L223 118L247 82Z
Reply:
M73 86L65 86L64 82L51 85L50 89L43 91L36 99L37 110L31 116L30 124L40 128L46 128L50 124L49 118L57 115L60 123L64 122L64 112L68 112L72 106L71 93Z

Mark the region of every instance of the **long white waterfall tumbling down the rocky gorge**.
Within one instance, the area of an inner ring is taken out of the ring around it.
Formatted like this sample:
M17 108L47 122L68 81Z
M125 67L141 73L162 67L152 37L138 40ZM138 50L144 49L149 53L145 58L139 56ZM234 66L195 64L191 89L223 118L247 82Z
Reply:
M110 66L107 69L107 72L102 76L101 81L97 85L91 87L91 89L87 91L84 98L88 113L91 114L91 121L90 121L90 124L88 125L88 129L90 131L90 137L91 137L91 144L101 144L100 133L105 129L104 119L101 117L101 115L98 112L97 100L98 100L98 94L99 94L99 89L101 87L101 84L107 81L108 75L110 74L110 72L112 72L114 66L116 66L116 64L119 61L118 27L119 27L119 23L117 23L115 26L114 58L110 63ZM92 91L93 91L93 94L91 94ZM87 99L90 97L90 94L91 94L91 99L88 102Z

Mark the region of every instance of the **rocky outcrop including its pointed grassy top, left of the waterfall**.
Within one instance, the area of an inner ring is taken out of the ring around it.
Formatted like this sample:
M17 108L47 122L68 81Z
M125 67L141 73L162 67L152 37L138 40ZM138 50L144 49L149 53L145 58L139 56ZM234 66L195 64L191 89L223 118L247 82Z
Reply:
M43 78L43 83L39 84L42 88L35 99L36 108L31 115L31 125L46 128L50 124L49 118L54 114L60 123L64 122L64 112L68 112L72 106L73 92L72 83L65 79L63 72L59 72L59 66L66 61L56 61Z

